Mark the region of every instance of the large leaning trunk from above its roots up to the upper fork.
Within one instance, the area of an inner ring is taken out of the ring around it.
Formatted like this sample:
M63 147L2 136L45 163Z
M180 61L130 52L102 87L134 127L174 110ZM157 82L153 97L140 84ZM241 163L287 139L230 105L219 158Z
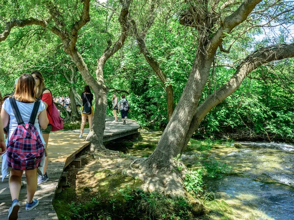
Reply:
M214 54L208 56L200 49L197 50L189 79L174 109L172 119L165 128L156 149L144 163L147 169L171 167L172 159L181 154L185 147L184 143L190 124L196 112L196 106L209 76L213 56ZM173 167L171 167L172 169Z

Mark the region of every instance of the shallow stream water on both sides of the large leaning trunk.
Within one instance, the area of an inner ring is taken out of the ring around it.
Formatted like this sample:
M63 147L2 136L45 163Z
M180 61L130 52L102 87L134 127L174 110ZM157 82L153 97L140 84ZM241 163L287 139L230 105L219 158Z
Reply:
M148 157L161 132L142 132L143 141L120 149ZM145 141L145 142L144 142ZM277 143L240 142L242 147L213 145L211 150L193 148L181 159L188 168L213 158L232 169L222 178L204 179L216 200L205 220L294 220L294 146ZM115 144L114 149L117 149Z

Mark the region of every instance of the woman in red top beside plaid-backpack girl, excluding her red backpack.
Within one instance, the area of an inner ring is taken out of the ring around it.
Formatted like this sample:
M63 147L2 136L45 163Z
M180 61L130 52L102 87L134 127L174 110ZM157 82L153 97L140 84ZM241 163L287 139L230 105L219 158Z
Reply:
M41 129L42 131L42 136L45 140L46 143L46 148L45 148L45 167L44 167L44 175L38 175L38 185L42 183L46 183L49 180L49 177L47 175L47 166L48 166L48 142L49 142L49 134L52 129L52 118L50 115L52 115L52 95L49 91L49 89L46 88L45 83L44 83L44 77L40 73L40 71L33 71L31 75L34 77L36 81L36 87L37 87L37 98L41 98L41 100L45 103L46 106L46 111L47 111L47 117L49 120L49 124L45 129Z

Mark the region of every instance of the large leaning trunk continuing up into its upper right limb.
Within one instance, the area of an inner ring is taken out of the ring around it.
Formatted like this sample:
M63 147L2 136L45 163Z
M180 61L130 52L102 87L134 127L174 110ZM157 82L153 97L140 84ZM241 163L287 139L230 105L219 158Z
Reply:
M207 82L218 47L226 34L230 33L238 24L244 22L260 1L245 1L235 12L223 20L220 28L215 33L203 28L212 26L211 21L206 19L206 17L209 17L207 2L204 5L199 5L201 13L195 12L195 16L190 19L194 21L192 22L193 25L199 24L195 26L199 37L191 73L182 96L174 109L172 119L165 128L156 149L142 164L143 169L151 170L153 173L166 167L173 169L173 158L182 153L188 143L187 140L190 140L195 131L194 129L192 132L190 127L196 128L202 120L199 122L199 120L194 119L196 107ZM191 11L195 11L194 9L192 6ZM198 117L196 116L196 118Z

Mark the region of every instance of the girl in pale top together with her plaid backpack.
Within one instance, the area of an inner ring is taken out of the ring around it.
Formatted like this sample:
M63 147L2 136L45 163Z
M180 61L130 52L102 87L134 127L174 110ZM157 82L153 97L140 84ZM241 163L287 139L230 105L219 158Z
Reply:
M9 123L7 150L2 155L1 169L2 181L10 171L12 205L8 211L8 220L18 219L18 199L24 170L27 192L25 210L31 210L39 204L38 199L33 197L37 190L37 171L43 173L45 163L45 141L40 135L40 127L46 128L49 121L45 103L36 99L35 85L34 77L22 74L14 96L4 101L0 113L3 126ZM31 155L34 157L31 158Z

